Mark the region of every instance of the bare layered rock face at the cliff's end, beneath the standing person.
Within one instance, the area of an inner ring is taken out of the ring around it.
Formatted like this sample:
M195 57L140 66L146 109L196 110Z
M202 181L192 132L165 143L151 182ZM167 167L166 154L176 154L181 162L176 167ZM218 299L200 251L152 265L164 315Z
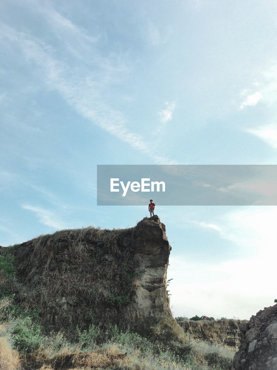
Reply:
M171 315L166 284L171 246L165 225L155 215L137 225L134 239L134 269L142 275L130 310L135 318Z

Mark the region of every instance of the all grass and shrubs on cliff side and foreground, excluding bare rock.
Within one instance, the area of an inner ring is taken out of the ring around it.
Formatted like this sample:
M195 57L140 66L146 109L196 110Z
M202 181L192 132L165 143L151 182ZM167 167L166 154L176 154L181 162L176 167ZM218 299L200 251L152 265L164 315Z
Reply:
M189 339L167 310L139 324L128 319L126 308L141 288L133 268L136 230L138 254L149 230L155 243L162 239L166 275L164 225L146 222L63 230L1 249L1 369L230 369L232 350ZM166 285L159 286L167 304Z

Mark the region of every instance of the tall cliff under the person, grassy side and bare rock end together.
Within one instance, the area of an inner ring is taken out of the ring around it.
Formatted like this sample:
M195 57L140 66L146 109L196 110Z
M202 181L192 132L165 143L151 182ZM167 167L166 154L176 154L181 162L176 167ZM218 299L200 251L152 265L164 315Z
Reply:
M16 256L18 303L45 327L144 322L165 314L171 246L158 216L129 229L75 229L5 248ZM172 319L173 320L173 319Z

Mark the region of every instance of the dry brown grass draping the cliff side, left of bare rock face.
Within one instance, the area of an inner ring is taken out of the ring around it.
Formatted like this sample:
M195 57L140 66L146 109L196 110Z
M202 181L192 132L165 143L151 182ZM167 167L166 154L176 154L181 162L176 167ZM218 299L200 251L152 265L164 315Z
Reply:
M49 324L52 317L55 330L77 323L82 329L92 318L107 322L111 317L116 322L115 316L122 318L123 313L117 313L128 305L138 279L132 269L133 236L134 228L88 227L41 235L22 252L18 252L20 246L12 247L11 253L19 256L30 251L17 269L18 303L27 310L43 307L42 323ZM102 241L104 246L93 249L90 240ZM68 260L64 255L59 259L63 248ZM112 257L109 263L102 259L104 249Z

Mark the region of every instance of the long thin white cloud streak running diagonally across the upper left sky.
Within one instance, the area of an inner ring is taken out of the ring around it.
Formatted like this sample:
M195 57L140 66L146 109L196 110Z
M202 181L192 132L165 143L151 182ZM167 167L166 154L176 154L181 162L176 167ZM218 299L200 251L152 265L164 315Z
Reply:
M112 110L101 95L98 82L88 75L82 76L78 68L70 68L67 64L58 61L51 56L49 48L31 37L30 35L19 33L13 28L1 25L0 33L8 38L10 42L17 43L21 47L25 58L32 61L42 69L42 81L49 87L55 88L64 100L74 108L84 118L89 119L109 134L118 138L120 141L129 144L132 148L146 154L158 164L174 164L162 155L153 153L150 145L141 135L130 132L125 125L124 116L121 112ZM175 106L170 105L168 112L165 110L164 120L171 119L172 111ZM167 115L167 117L166 117Z

